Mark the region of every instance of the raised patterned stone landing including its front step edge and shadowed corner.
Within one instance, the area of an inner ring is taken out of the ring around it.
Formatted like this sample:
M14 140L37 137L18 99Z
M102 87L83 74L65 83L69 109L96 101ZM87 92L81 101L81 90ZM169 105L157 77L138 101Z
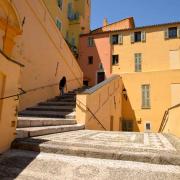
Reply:
M180 165L179 139L158 133L80 130L17 140L14 148L56 154Z

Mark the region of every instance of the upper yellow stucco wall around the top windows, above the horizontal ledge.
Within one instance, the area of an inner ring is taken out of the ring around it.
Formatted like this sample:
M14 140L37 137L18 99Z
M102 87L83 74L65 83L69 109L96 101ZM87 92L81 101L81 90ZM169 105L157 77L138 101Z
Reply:
M171 69L170 53L180 50L180 39L164 39L164 30L171 26L144 28L137 31L146 32L146 42L131 43L131 33L123 31L123 44L114 45L112 54L119 55L119 64L112 67L112 72L135 72L135 53L142 54L142 72ZM176 67L178 68L178 67Z

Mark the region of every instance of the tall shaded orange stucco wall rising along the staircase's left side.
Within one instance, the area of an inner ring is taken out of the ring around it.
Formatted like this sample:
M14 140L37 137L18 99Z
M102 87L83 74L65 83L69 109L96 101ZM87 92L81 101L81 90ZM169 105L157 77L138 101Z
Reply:
M66 76L68 90L82 86L82 71L41 0L14 0L23 33L16 38L13 57L25 65L21 86L30 91L20 98L20 110L59 94L58 84ZM45 87L45 88L40 88ZM39 89L40 88L40 89Z

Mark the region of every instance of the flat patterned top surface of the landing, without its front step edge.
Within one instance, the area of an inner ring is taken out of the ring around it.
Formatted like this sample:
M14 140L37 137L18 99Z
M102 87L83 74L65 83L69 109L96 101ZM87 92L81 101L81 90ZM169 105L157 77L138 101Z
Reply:
M80 130L35 137L29 141L46 140L45 143L77 147L93 147L129 151L167 151L176 152L176 148L167 137L158 133L109 132Z

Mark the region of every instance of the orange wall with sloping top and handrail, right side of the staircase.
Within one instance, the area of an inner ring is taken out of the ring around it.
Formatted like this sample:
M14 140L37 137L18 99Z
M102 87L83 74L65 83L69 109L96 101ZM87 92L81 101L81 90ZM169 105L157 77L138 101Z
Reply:
M113 131L121 130L121 92L122 80L120 76L118 76L93 93L78 94L76 100L77 121L85 123L86 129L104 130L105 128L106 130ZM111 122L111 120L113 120L113 122Z

